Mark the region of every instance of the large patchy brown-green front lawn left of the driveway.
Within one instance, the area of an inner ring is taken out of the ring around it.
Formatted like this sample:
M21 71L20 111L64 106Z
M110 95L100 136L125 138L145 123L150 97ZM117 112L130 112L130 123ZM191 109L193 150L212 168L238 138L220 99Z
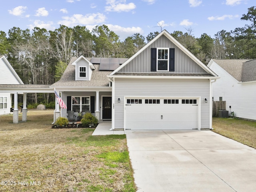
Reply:
M136 191L125 135L52 129L52 121L53 110L28 110L18 124L0 116L0 191Z

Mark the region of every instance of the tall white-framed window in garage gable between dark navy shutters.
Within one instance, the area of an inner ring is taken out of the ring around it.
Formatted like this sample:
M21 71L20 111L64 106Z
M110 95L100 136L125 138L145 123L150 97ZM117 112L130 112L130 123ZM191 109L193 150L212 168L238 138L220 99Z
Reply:
M156 70L169 71L169 48L157 48Z

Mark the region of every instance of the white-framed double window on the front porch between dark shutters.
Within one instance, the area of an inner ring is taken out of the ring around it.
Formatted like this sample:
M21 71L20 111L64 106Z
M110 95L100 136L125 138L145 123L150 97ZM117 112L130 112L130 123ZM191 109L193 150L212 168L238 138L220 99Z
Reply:
M75 113L80 111L85 112L90 110L90 97L89 96L72 96L71 110Z

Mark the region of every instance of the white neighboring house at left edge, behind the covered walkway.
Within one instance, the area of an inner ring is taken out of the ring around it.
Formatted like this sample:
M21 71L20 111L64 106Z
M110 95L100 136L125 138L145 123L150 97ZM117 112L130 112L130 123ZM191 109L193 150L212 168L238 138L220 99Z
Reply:
M5 56L0 56L0 84L23 84ZM0 115L9 114L12 107L11 94L0 93Z

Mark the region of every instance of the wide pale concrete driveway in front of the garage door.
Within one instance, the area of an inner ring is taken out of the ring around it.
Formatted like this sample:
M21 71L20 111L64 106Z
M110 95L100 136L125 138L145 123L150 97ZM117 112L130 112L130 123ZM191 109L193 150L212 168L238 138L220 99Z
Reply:
M256 150L212 131L125 131L138 192L255 192Z

